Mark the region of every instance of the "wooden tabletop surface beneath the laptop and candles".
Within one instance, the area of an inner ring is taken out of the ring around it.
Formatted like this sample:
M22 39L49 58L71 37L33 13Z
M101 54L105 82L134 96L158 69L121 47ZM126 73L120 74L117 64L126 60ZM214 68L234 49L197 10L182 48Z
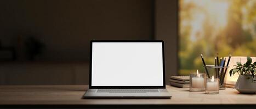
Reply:
M0 86L0 105L172 105L256 104L256 94L226 88L220 94L167 86L172 99L81 99L88 86Z

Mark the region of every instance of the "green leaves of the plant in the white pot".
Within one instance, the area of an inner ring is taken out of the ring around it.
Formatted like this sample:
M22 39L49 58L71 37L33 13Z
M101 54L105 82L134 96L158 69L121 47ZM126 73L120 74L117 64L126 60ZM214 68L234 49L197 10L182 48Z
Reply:
M242 64L241 62L236 62L237 65L236 68L231 69L229 71L230 77L232 76L232 74L236 74L238 73L239 75L250 75L252 77L254 77L255 73L256 73L256 62L254 62L252 64L252 58L251 57L247 57L247 62Z

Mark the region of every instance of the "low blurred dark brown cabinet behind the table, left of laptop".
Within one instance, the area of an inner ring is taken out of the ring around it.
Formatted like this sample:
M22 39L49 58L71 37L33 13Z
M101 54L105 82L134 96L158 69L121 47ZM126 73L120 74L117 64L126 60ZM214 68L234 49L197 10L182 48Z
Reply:
M8 62L0 65L1 85L88 84L88 62Z

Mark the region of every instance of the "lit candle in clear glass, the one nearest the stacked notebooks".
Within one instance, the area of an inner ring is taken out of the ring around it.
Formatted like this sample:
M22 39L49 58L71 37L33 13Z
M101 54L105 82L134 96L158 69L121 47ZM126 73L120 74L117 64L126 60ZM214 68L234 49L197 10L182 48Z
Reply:
M206 90L206 74L192 72L190 74L190 92L203 92Z

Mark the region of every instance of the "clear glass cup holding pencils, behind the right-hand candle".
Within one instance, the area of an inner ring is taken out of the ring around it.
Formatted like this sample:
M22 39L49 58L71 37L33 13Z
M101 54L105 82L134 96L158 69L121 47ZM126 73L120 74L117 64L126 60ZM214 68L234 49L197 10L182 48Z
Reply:
M207 69L209 76L207 77L207 82L211 84L211 82L218 82L219 89L225 89L224 86L224 78L225 78L225 70L229 66L214 66L214 65L206 65L204 66L205 69ZM213 80L211 80L213 78ZM206 88L207 88L207 82L206 82ZM218 89L218 90L219 90ZM207 90L207 89L206 89Z

